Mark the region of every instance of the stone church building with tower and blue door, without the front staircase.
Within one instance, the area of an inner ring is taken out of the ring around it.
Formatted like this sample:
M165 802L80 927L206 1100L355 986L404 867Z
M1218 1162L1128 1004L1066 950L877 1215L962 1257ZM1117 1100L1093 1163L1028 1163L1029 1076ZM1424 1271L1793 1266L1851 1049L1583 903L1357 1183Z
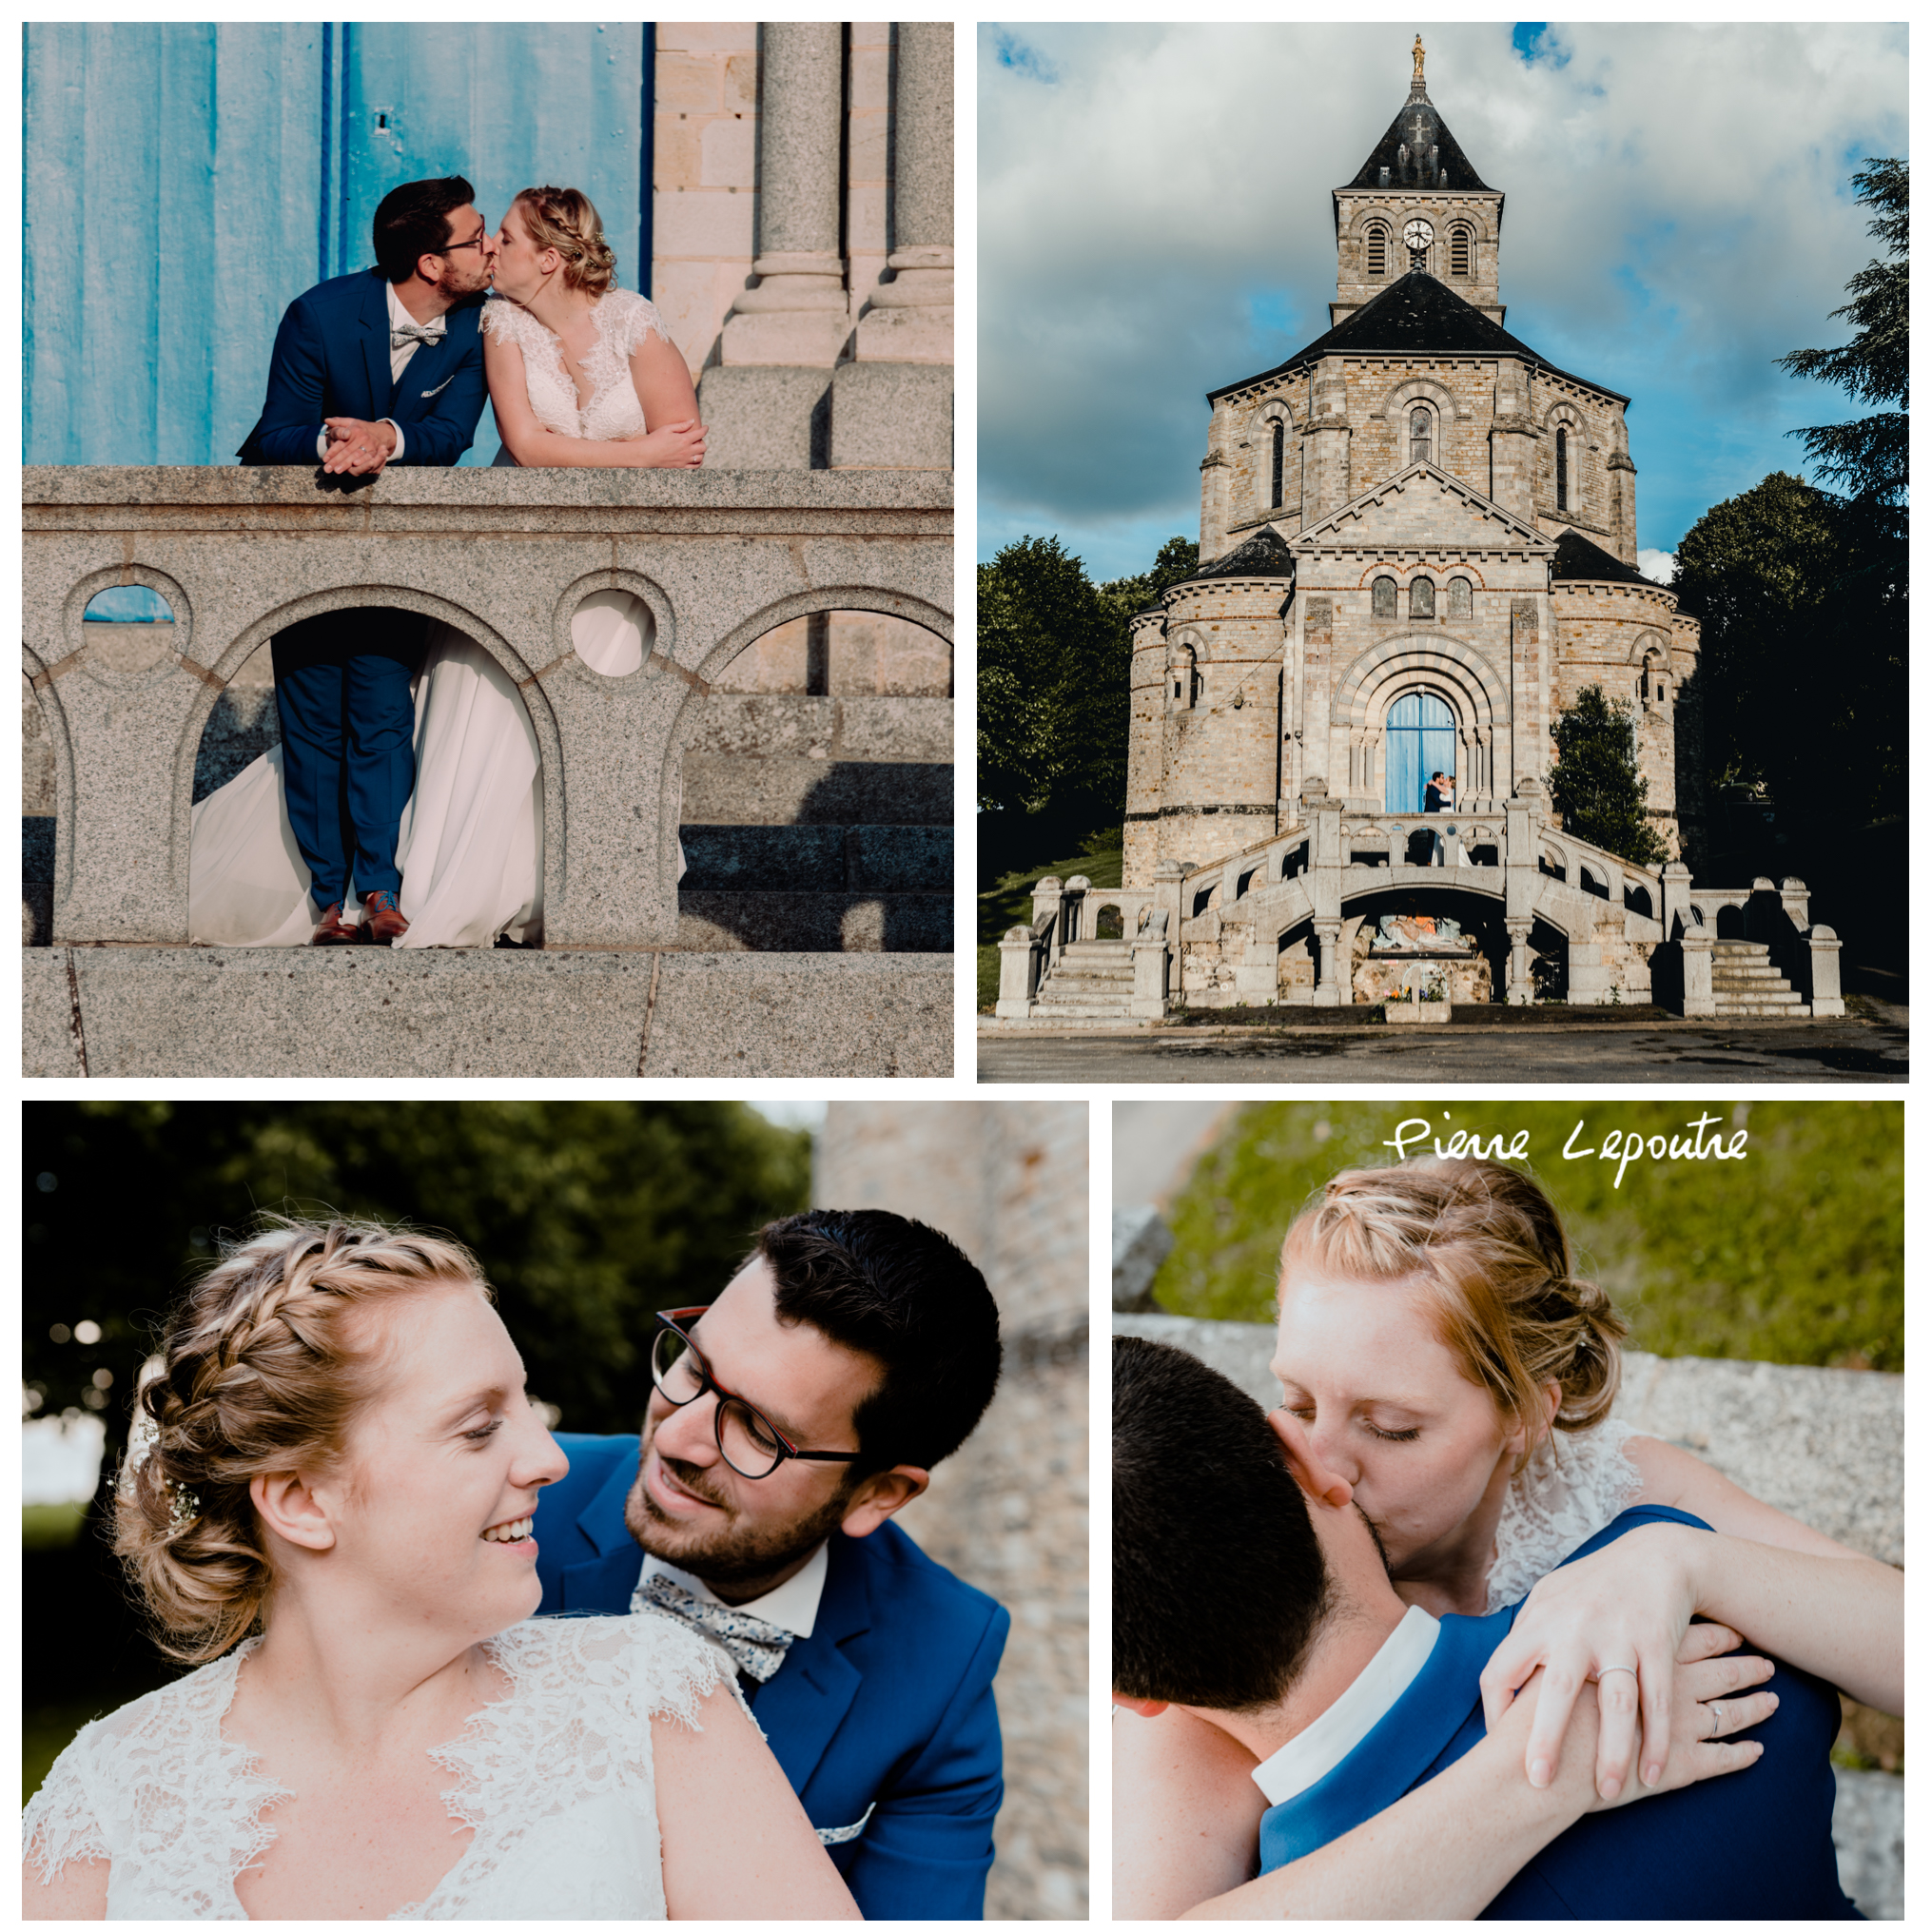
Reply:
M1209 396L1202 568L1134 620L1126 885L1316 800L1420 811L1434 771L1499 811L1590 684L1631 703L1652 817L1694 856L1698 626L1636 570L1631 398L1505 328L1505 197L1422 60L1333 189L1327 334Z

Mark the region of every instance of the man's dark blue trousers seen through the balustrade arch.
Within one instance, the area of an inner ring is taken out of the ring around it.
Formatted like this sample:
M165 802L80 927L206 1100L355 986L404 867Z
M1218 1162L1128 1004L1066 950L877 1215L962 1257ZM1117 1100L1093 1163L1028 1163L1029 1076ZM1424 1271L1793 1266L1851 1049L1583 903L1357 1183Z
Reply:
M317 906L398 893L396 831L415 784L410 678L423 661L413 611L328 611L274 638L288 825Z

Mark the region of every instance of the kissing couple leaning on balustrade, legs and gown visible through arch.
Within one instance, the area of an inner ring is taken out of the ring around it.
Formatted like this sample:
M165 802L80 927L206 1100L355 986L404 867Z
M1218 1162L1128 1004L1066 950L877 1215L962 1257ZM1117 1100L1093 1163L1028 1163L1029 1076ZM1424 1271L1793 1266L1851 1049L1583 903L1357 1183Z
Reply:
M705 431L657 309L616 286L589 197L526 187L497 232L462 176L375 211L373 269L290 303L240 458L375 477L456 464L485 394L506 468L697 468ZM605 676L643 663L649 612L572 616ZM334 609L276 634L280 744L193 811L197 945L533 945L543 777L514 680L439 618Z

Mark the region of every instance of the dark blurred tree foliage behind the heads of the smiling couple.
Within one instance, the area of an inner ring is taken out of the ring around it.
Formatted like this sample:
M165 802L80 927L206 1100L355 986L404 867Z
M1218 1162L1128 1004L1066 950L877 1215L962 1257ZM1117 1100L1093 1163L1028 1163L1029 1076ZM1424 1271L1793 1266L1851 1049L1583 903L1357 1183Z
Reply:
M620 1432L649 1399L651 1314L709 1298L810 1184L810 1136L736 1101L35 1101L21 1136L23 1378L114 1443L176 1291L257 1209L454 1233L531 1393Z

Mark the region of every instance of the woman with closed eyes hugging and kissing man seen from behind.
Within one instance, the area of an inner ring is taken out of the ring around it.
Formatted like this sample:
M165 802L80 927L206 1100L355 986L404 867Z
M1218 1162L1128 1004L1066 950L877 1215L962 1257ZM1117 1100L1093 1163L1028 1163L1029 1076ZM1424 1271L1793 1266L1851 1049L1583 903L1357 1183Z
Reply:
M1482 1617L1528 1602L1484 1671L1492 1737L1327 1845L1320 1872L1298 1861L1246 1884L1267 1801L1225 1731L1179 1710L1117 1718L1115 1917L1173 1918L1208 1899L1223 1917L1337 1917L1337 1886L1347 1917L1412 1917L1391 1878L1416 1861L1391 1849L1416 1853L1437 1897L1490 1897L1571 1822L1524 1843L1520 1801L1549 1785L1573 1712L1596 1729L1602 1799L1629 1779L1648 1789L1669 1754L1673 1662L1721 1654L1735 1633L1903 1712L1901 1575L1607 1420L1623 1335L1520 1169L1358 1169L1294 1221L1271 1362L1277 1434L1323 1493L1370 1519L1408 1604ZM1658 1520L1565 1565L1638 1503L1718 1534ZM1692 1629L1692 1615L1714 1621ZM1584 1683L1598 1689L1578 1700ZM1526 1685L1505 1743L1501 1719Z

